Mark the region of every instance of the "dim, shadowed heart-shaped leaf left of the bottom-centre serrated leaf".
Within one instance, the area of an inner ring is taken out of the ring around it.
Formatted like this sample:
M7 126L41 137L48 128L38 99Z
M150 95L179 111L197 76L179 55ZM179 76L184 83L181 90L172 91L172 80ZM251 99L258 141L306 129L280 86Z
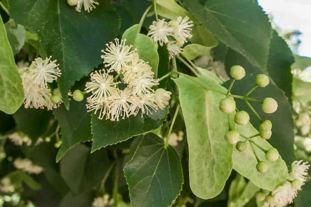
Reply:
M101 180L110 166L105 150L90 154L85 145L76 145L68 150L60 162L60 173L71 191L80 193L100 186Z

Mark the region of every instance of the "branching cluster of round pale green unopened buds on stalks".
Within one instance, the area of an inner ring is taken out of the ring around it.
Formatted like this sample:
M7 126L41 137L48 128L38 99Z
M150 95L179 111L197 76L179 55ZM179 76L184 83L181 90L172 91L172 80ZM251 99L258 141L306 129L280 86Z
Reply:
M233 97L244 99L246 104L252 109L252 111L255 113L255 115L261 120L261 123L259 125L259 133L250 137L243 136L239 133L236 129L229 129L225 133L225 140L229 142L230 144L235 144L236 150L239 152L243 152L247 149L247 142L251 145L253 149L253 145L258 147L260 150L262 150L266 154L266 159L269 162L274 162L279 158L279 153L275 148L271 148L269 150L263 149L260 145L255 143L252 138L260 136L262 139L270 139L272 135L272 123L269 120L262 120L259 115L256 113L256 111L253 109L251 104L249 104L248 100L252 101L254 99L248 98L248 95L258 86L259 87L266 87L269 84L269 78L268 76L264 74L258 74L256 76L256 85L245 95L245 96L231 96L230 90L234 84L234 81L241 80L245 76L245 70L243 67L235 65L231 67L230 75L232 76L233 80L231 81L231 84L228 89L228 93L226 95L226 98L221 99L219 102L219 109L221 112L225 114L231 114L234 113L236 109L236 104L233 99ZM277 109L277 102L276 100L272 98L265 98L263 101L256 100L257 102L262 102L262 110L265 113L274 113ZM238 111L234 115L234 122L237 125L245 125L249 122L249 115L246 111ZM240 137L243 137L244 141L239 141ZM256 152L253 150L256 159L258 161L256 165L256 169L260 173L267 172L268 170L268 163L266 161L262 161L258 158Z

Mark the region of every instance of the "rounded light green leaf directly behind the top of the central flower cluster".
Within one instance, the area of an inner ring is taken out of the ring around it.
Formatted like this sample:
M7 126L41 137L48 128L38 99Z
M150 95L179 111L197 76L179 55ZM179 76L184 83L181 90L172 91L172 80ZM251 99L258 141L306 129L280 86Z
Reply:
M138 25L133 25L127 30L125 30L122 35L122 39L127 40L127 44L134 44L135 38L137 38L137 42L134 45L137 48L137 53L139 58L148 62L151 66L152 72L154 72L154 79L158 77L158 65L159 65L159 54L156 49L156 44L152 41L150 37L147 37L144 34L137 34Z

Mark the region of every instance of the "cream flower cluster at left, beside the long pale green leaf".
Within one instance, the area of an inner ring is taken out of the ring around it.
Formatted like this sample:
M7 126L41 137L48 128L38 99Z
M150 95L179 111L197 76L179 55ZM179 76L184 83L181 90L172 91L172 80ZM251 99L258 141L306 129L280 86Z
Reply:
M18 68L22 78L24 87L24 105L25 108L44 108L48 110L57 108L62 100L57 102L51 100L51 90L48 88L47 83L52 83L61 75L58 65L55 64L56 60L51 61L52 57L36 58L29 67ZM60 93L58 89L53 90L53 95Z

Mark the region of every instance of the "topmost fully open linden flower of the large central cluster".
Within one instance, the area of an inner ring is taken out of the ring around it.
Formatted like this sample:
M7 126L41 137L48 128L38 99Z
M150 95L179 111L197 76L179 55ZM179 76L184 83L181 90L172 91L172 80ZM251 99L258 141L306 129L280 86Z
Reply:
M105 53L101 56L101 58L104 59L104 63L108 63L105 65L105 67L109 67L111 70L115 70L117 73L119 73L123 67L126 66L126 63L131 61L132 59L132 52L130 52L130 49L133 47L132 45L128 46L125 45L126 39L121 39L121 43L119 43L119 39L116 38L115 44L113 42L110 42L109 44L106 44L107 48L106 51L102 50L101 52Z

